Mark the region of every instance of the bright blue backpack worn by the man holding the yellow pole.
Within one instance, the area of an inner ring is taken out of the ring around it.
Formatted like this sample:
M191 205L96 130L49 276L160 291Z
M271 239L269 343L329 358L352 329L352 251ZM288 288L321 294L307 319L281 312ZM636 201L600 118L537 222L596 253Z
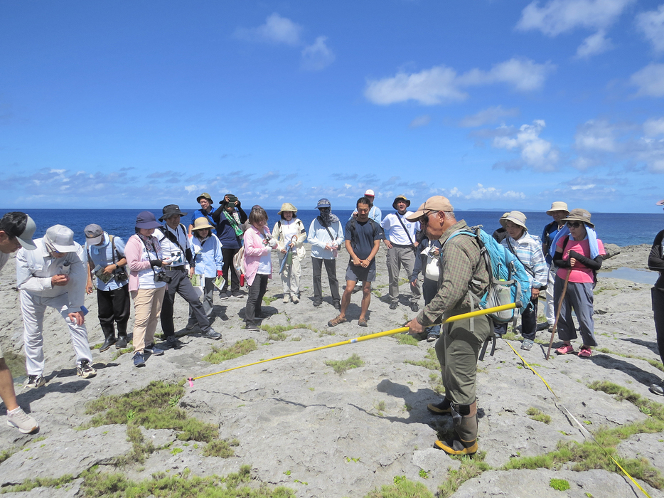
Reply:
M469 235L474 237L480 248L480 254L486 263L489 274L489 285L486 293L482 296L478 307L481 309L501 306L503 304L516 303L518 308L530 304L530 279L525 268L509 250L496 242L491 235L482 230L482 226L469 227L453 232L445 243L456 235ZM441 250L442 258L443 250ZM470 294L470 291L468 291ZM472 294L469 295L471 307L473 300L477 300ZM519 312L515 309L507 309L502 312L491 313L488 316L497 323L508 323L518 317Z

